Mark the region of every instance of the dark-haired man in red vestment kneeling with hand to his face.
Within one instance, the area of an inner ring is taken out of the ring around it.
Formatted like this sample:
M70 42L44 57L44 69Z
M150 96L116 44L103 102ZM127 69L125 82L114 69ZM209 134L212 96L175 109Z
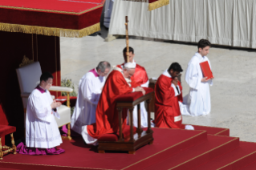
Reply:
M179 63L172 63L156 81L155 86L155 126L193 129L183 125L179 102L182 103L182 87L177 76L182 72Z

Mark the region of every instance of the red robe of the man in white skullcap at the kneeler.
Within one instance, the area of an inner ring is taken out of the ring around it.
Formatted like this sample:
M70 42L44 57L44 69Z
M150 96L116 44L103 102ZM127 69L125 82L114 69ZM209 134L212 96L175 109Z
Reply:
M117 66L120 67L120 66ZM132 79L131 87L120 71L112 71L106 80L96 109L96 123L87 126L89 136L98 139L106 133L119 132L118 111L115 99L119 95L132 92L132 87L138 84ZM126 126L127 109L123 110L123 129Z

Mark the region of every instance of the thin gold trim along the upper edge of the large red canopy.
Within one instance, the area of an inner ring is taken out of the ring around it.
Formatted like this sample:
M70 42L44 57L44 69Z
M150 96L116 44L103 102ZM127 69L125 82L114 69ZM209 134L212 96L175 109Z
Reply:
M101 6L104 6L104 3L100 6L95 6L89 10L83 10L81 12L67 12L67 11L60 11L60 10L42 10L42 9L35 9L35 8L24 8L24 7L17 7L17 6L0 6L0 8L7 8L7 9L14 9L14 10L34 10L39 12L53 12L53 13L61 13L61 14L83 14L90 10L95 10L96 8L100 8Z

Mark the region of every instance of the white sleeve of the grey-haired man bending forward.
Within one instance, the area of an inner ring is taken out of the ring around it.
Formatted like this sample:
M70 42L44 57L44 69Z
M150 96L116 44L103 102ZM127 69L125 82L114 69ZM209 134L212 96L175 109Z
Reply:
M86 99L92 104L97 104L100 99L101 90L96 89L93 91L93 83L91 79L85 78L81 83L81 91L83 93L83 99Z

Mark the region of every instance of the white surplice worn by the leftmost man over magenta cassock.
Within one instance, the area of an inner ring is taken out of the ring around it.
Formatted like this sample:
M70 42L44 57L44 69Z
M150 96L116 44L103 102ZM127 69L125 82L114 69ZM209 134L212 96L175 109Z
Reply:
M26 108L26 147L54 148L63 143L55 120L59 113L51 109L52 102L49 91L31 92Z

